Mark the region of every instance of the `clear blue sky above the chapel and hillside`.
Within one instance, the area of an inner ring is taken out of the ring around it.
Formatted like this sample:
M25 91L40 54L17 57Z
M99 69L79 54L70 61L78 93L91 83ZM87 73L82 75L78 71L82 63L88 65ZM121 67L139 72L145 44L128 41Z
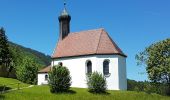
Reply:
M147 80L135 55L170 38L170 0L66 0L71 32L105 28L128 55L127 77ZM58 40L63 0L0 0L0 26L8 39L51 55Z

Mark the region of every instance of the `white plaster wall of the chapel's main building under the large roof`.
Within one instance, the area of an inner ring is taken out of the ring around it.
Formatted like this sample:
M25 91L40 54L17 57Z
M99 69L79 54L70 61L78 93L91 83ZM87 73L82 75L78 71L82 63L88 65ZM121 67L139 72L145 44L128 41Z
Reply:
M119 55L93 55L82 57L70 57L55 59L51 64L57 65L59 62L66 66L72 77L71 87L87 88L86 85L86 61L92 62L92 71L103 73L103 61L110 60L109 73L106 77L109 90L126 90L126 61ZM119 67L118 67L119 66Z

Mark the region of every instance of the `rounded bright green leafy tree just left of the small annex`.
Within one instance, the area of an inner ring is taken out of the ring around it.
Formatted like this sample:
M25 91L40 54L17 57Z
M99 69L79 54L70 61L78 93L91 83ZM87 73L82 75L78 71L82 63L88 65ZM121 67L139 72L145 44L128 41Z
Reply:
M23 58L22 65L17 67L16 72L18 80L28 84L37 83L38 66L32 58Z

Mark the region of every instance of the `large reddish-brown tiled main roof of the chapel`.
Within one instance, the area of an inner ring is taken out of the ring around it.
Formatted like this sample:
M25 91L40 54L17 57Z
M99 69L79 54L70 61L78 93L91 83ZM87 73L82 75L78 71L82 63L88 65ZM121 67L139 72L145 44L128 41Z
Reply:
M126 57L104 29L96 29L69 33L58 42L52 58L94 54L117 54Z

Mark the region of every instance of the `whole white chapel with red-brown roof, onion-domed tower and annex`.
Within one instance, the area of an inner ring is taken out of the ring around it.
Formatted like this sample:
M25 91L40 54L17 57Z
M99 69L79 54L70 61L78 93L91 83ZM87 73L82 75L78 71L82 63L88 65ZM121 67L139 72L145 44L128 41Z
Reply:
M70 32L71 16L64 7L59 16L59 39L51 65L38 73L38 85L48 84L52 66L66 66L72 77L71 87L87 88L86 74L102 73L108 90L127 90L126 55L103 29Z

